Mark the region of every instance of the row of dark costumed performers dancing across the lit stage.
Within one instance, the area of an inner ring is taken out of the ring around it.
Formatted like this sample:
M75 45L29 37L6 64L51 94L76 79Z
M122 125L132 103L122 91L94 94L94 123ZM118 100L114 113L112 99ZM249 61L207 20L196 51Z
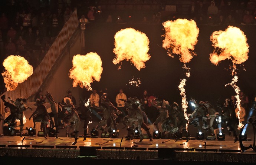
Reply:
M19 119L20 136L22 137L23 112L25 110L32 109L26 105L26 99L23 98L17 98L15 101L13 101L12 98L8 98L7 101L5 95L3 95L1 99L4 102L4 106L10 109L10 115L4 120L4 123L7 123L9 126L14 126L16 124L16 119ZM43 105L46 99L50 103L52 111L50 113L47 112L46 106ZM112 133L113 130L115 130L116 137L118 138L118 123L116 122L116 119L118 118L118 115L122 114L122 112L110 102L106 93L101 96L100 100L101 104L99 104L99 106L95 106L92 103L90 104L89 101L83 100L82 105L75 108L69 97L65 97L62 102L55 102L52 95L49 92L46 92L45 99L36 99L35 105L37 108L29 117L29 120L33 118L34 128L36 126L36 122L40 122L40 129L43 131L43 136L47 138L46 125L49 120L54 118L56 138L58 138L59 126L62 124L66 128L66 132L69 137L70 133L74 134L75 142L73 145L75 145L78 139L78 128L81 124L81 120L84 121L83 141L85 141L88 132L88 124L92 122L92 110L95 110L103 116L96 126L96 129L101 130L105 134ZM147 125L148 117L144 112L144 101L137 98L129 98L128 100L121 99L121 101L125 102L125 109L128 113L127 116L120 120L128 131L126 140L133 139L135 130L137 130L140 135L141 142L143 140L142 129L144 129L147 132L150 141L152 141L152 135L149 131L150 128L148 128ZM230 132L233 132L234 141L236 142L238 140L236 131L239 120L236 117L236 113L233 108L234 106L230 99L222 100L222 102L220 100L218 102L217 108L220 110L216 110L207 101L200 101L197 103L194 99L191 99L189 103L194 107L194 111L191 114L187 114L187 120L186 115L184 115L184 110L177 103L173 102L170 104L166 100L153 99L152 106L157 108L160 113L153 123L155 130L160 131L159 125L161 125L161 129L165 132L165 135L170 133L178 140L182 137L182 133L184 133L188 141L188 125L193 125L200 132L202 130L210 130L211 135L214 135L213 123L214 120L216 120L220 127L225 123L226 128Z

